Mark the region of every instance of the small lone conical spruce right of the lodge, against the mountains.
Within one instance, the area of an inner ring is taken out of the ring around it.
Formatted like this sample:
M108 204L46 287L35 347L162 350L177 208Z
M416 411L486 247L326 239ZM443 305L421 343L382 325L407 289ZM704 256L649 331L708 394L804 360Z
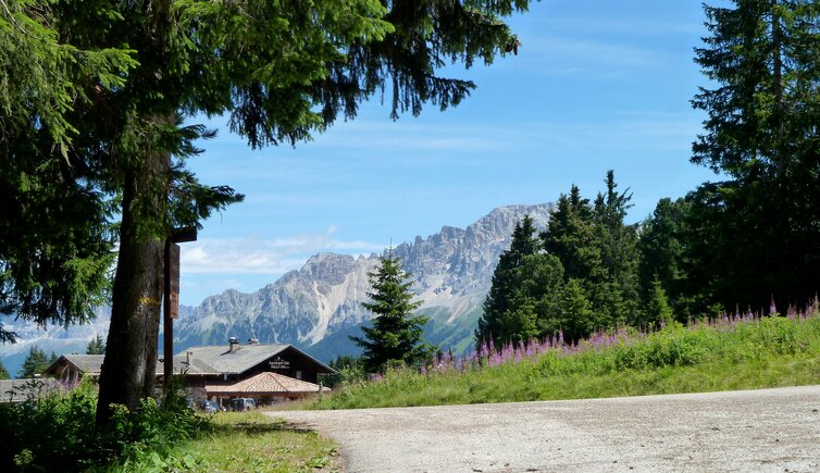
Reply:
M350 336L363 349L365 370L378 373L393 364L414 365L424 361L431 349L423 340L423 327L428 319L412 313L421 301L412 301L410 275L398 259L387 254L381 258L378 269L369 273L369 277L371 301L363 302L362 307L376 318L372 326L362 327L363 338Z

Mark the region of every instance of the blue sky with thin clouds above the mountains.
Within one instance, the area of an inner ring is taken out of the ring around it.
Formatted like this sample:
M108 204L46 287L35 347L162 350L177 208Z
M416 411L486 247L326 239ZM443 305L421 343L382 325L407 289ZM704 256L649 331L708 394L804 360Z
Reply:
M575 184L594 198L614 170L628 220L716 179L689 163L707 84L693 48L700 2L544 0L509 20L518 55L444 75L477 88L456 108L389 119L378 99L296 147L251 150L226 120L188 164L246 195L182 244L181 302L252 292L311 254L370 254L465 227L496 207L554 202ZM389 98L386 99L389 102Z

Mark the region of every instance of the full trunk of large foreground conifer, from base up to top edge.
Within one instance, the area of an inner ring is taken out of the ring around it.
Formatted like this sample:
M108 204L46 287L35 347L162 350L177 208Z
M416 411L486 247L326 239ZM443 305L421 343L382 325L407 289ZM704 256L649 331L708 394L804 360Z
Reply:
M161 82L167 69L171 3L171 0L153 0L144 4L148 9L150 46L140 51L141 67L132 74L147 80L146 90L164 89L152 80ZM139 97L137 90L134 94ZM100 373L97 428L108 424L112 403L123 404L129 411L139 408L140 399L153 394L157 376L171 154L159 148L163 146L161 141L152 140L157 129L150 124L173 125L175 109L169 110L167 103L142 102L147 108L137 112L137 119L145 120L136 120L135 126L145 126L138 134L146 144L144 150L136 151L141 151L138 157L128 157L132 164L124 176L120 254Z

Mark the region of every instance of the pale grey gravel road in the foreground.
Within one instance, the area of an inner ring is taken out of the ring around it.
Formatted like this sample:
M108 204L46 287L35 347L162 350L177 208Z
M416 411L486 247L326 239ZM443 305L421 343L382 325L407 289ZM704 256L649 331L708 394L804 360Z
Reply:
M271 412L348 472L820 471L820 386L579 401Z

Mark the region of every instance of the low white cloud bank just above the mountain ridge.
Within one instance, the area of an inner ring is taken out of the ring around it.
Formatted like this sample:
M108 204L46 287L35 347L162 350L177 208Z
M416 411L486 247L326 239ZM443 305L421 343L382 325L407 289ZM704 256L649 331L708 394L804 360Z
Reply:
M351 253L378 252L383 245L344 241L333 237L334 227L324 234L264 239L208 238L184 245L182 266L187 274L271 274L297 270L311 254L322 251Z

